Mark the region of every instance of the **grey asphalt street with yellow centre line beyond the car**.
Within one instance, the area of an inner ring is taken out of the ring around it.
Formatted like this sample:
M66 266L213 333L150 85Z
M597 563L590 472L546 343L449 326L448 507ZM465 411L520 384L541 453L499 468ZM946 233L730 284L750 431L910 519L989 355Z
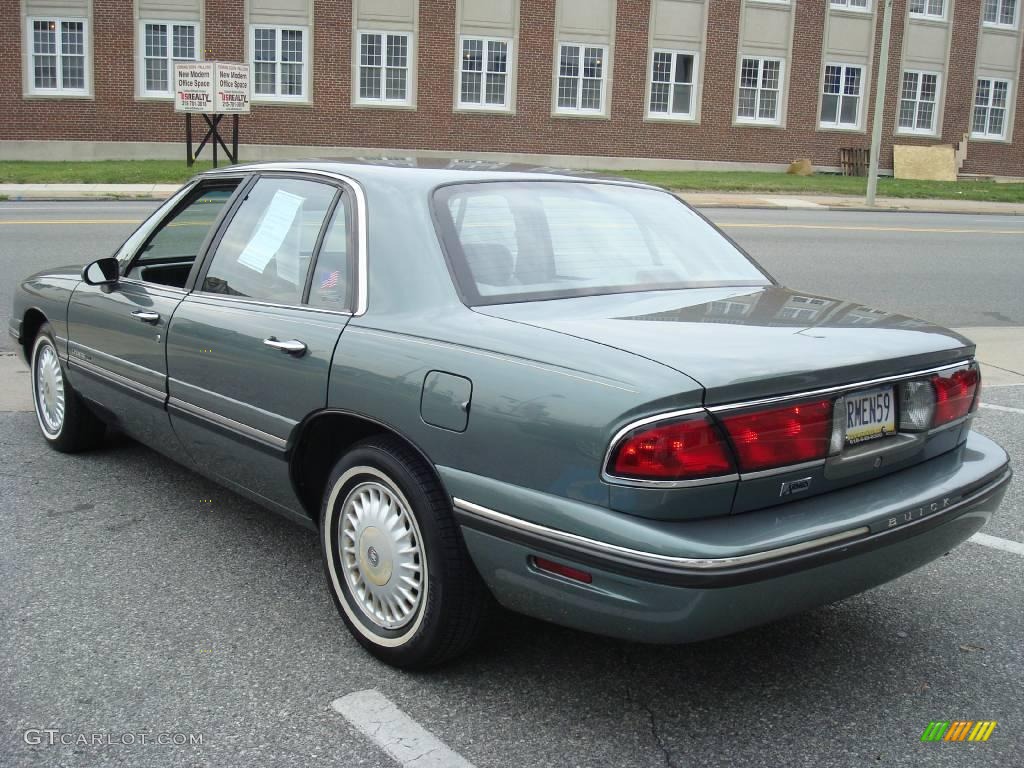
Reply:
M6 326L15 280L37 269L111 255L155 207L142 202L0 202L0 324ZM1021 217L827 210L708 213L787 286L953 328L1024 326ZM5 337L0 345L9 347Z

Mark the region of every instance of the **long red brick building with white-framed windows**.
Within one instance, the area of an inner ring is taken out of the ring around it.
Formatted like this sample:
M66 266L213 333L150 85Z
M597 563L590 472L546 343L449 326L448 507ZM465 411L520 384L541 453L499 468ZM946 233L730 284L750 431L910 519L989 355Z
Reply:
M884 2L2 0L0 157L182 157L171 61L216 58L253 68L243 159L836 167ZM883 168L967 134L964 173L1024 176L1022 5L894 0Z

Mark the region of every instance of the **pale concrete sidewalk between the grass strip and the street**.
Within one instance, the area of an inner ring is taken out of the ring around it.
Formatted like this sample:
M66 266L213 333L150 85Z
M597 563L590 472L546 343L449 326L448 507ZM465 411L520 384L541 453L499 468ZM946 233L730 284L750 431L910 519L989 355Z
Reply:
M7 200L165 200L178 184L0 184ZM680 191L694 208L766 208L823 211L903 211L1024 216L1021 203L984 203L969 200L879 198L873 208L860 197L827 195L761 195L758 193Z

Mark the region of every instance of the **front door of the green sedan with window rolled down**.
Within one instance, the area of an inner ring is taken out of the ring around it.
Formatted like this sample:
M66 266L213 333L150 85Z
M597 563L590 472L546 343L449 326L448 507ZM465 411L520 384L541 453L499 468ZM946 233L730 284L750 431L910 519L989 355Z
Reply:
M69 376L75 389L128 434L175 453L164 403L165 344L188 275L238 180L203 182L163 219L129 239L113 286L80 284L68 306ZM137 242L136 242L137 241Z

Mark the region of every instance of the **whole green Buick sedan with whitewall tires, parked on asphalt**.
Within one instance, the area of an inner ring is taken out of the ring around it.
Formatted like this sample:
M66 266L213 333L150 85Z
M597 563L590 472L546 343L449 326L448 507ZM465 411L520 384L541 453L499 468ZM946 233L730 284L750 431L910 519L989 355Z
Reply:
M839 600L971 537L1011 475L968 339L544 169L204 173L26 280L10 333L46 442L113 427L316 529L342 621L407 668L496 601L684 643Z

